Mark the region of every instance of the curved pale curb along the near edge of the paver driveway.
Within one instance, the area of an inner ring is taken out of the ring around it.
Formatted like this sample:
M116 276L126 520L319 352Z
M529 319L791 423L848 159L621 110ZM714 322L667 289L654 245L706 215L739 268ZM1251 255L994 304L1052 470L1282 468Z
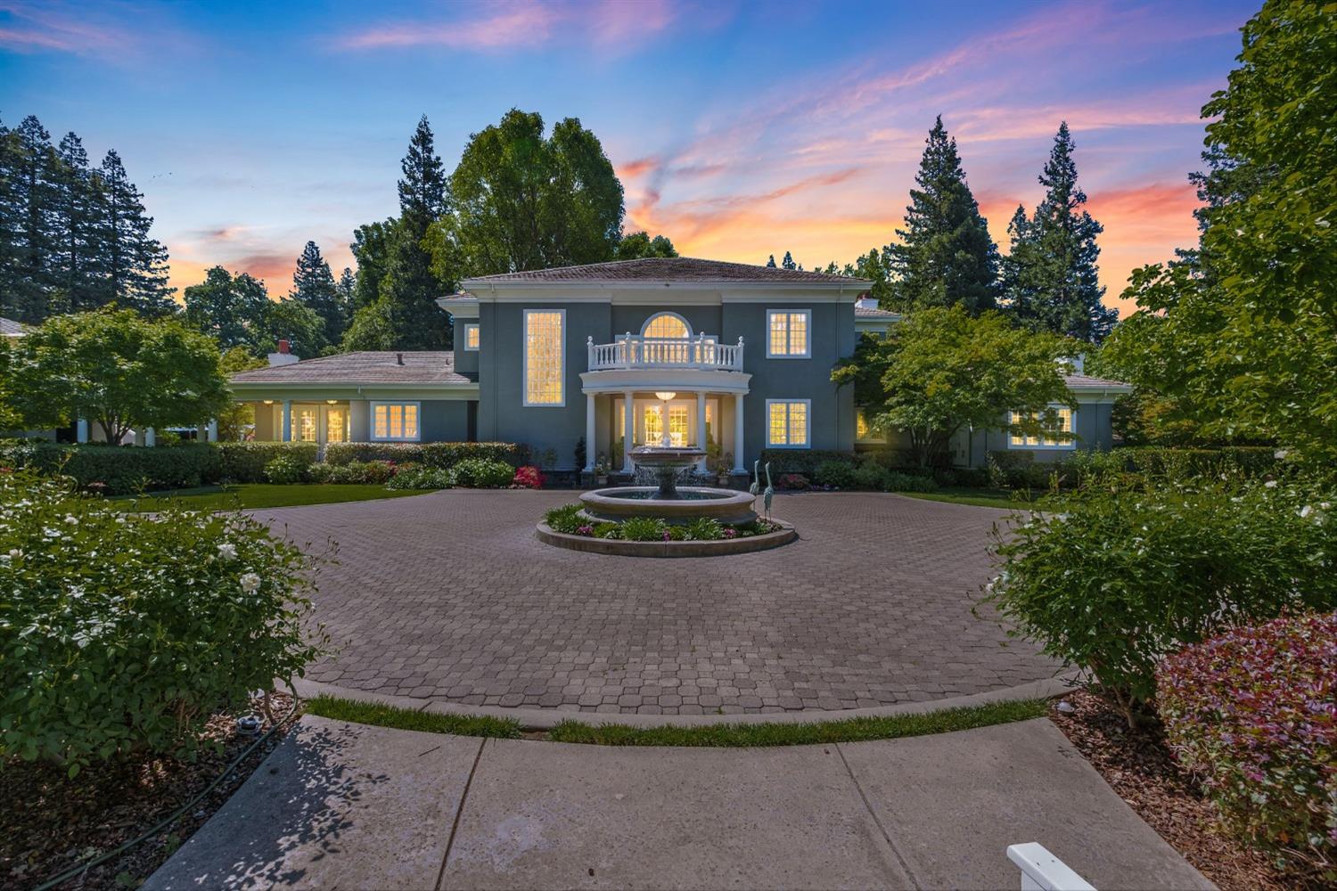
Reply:
M326 695L350 699L358 703L374 703L380 705L394 705L416 712L429 712L433 715L460 715L460 716L487 716L503 717L520 721L520 727L527 731L547 731L564 720L578 720L587 724L622 724L626 727L710 727L713 724L810 724L814 721L842 721L852 717L889 717L893 715L924 715L927 712L941 712L949 708L969 708L972 705L988 705L991 703L1009 703L1024 699L1050 699L1068 692L1076 684L1078 672L1064 672L1047 680L1021 684L1020 687L1004 687L969 696L951 696L948 699L932 699L917 703L894 703L892 705L873 705L868 708L845 708L836 711L804 711L804 712L749 712L730 715L620 715L611 712L572 712L555 708L501 708L500 705L464 705L460 703L439 703L433 700L413 699L410 696L388 696L370 691L349 689L334 684L324 684L306 679L297 679L293 687L302 699Z

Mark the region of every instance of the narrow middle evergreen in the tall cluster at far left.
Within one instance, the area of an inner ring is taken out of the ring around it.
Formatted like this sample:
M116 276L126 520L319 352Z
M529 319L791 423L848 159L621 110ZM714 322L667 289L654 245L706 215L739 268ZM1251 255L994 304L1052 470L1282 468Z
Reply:
M78 313L98 306L98 207L102 176L88 168L88 152L74 132L56 151L52 216L55 273L60 301L52 311Z

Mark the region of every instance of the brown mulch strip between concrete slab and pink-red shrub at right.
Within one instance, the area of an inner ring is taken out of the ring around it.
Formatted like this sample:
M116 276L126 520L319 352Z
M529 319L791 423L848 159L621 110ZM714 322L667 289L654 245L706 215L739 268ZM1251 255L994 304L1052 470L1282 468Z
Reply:
M1050 719L1128 807L1198 872L1222 891L1298 887L1294 876L1278 872L1266 856L1226 834L1211 801L1175 764L1158 725L1131 731L1122 715L1083 691L1063 699L1076 711L1063 715L1055 708Z

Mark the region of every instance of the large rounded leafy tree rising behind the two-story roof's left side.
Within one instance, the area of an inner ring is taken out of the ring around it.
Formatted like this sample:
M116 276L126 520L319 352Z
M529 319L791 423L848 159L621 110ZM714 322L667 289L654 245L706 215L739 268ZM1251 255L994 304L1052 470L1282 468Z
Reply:
M441 281L599 263L622 242L622 183L575 118L544 136L540 115L512 108L469 138L451 196L428 236Z

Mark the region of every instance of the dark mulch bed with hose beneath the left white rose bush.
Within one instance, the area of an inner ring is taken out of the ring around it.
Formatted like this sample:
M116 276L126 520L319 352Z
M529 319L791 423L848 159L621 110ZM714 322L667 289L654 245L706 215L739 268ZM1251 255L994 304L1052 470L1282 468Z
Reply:
M291 708L286 695L270 697L282 721ZM263 717L259 700L257 715ZM207 787L251 743L237 732L237 713L215 715L205 736L222 741L218 753L202 751L194 761L142 757L66 771L12 760L0 767L0 890L36 888L71 867L138 838ZM135 888L214 815L282 739L287 727L262 743L175 823L128 851L112 856L60 886ZM266 721L261 733L269 729Z

